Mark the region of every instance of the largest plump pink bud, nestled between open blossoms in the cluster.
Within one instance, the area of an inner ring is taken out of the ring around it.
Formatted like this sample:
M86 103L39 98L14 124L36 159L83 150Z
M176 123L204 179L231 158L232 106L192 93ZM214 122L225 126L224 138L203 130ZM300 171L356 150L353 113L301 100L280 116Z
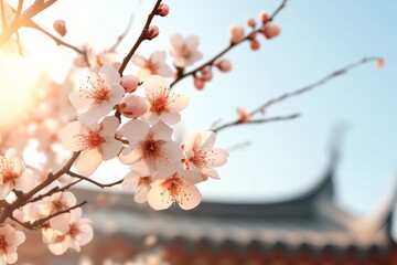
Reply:
M144 97L128 93L119 104L119 109L127 118L138 118L139 116L146 114L148 105Z

